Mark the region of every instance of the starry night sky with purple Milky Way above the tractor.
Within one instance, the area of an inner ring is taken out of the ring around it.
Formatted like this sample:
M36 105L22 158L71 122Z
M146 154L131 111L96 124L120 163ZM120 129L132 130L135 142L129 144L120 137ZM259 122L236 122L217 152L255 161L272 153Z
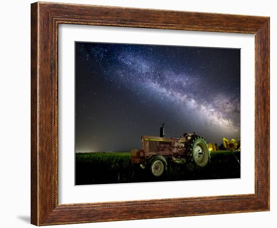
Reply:
M76 42L76 152L142 135L240 139L240 49Z

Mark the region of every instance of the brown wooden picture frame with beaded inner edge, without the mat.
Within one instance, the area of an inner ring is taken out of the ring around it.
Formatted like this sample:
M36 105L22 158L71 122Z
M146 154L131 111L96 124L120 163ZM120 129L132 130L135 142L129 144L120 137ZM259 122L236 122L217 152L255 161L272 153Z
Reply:
M58 25L248 33L255 36L254 194L58 203ZM88 5L31 5L31 223L114 221L269 210L269 18Z

